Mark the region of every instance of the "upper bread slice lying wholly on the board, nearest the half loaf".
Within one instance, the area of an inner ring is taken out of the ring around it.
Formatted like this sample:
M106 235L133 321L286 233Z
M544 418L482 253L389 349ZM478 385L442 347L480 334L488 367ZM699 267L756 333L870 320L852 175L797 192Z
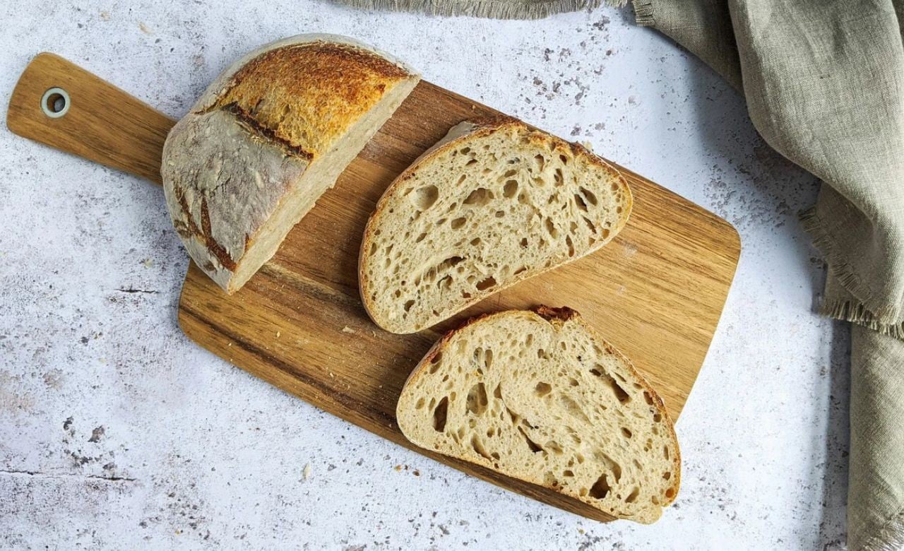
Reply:
M598 250L627 222L625 178L509 118L463 122L389 186L364 232L364 308L393 333Z

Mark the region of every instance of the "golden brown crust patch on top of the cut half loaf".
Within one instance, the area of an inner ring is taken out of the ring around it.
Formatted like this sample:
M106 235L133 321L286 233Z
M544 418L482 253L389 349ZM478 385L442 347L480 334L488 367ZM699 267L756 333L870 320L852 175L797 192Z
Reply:
M410 77L399 65L353 45L290 45L248 62L212 109L229 107L310 160L333 147L386 90Z

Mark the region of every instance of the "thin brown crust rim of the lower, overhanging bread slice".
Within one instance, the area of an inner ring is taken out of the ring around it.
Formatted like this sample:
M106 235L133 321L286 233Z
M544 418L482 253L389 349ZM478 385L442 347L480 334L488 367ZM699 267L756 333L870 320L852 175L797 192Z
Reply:
M570 322L579 323L581 325L581 327L584 328L586 331L588 331L588 333L590 335L592 335L599 344L604 346L604 348L608 354L617 356L620 360L622 360L622 362L624 362L628 371L632 375L635 375L636 380L639 381L640 384L644 386L644 390L652 398L653 406L655 407L656 412L663 416L663 419L665 420L664 424L665 424L665 426L667 426L669 428L669 440L673 443L673 447L674 447L674 454L670 457L670 461L672 461L672 463L673 463L673 471L672 471L673 478L671 479L672 485L670 486L670 488L673 490L673 493L672 493L671 498L668 498L667 500L664 500L661 503L661 507L665 508L665 507L671 505L673 503L674 499L677 497L678 490L681 487L681 447L678 445L678 436L677 436L677 434L675 434L675 431L674 431L674 423L672 421L672 417L669 415L668 411L665 409L665 404L663 402L662 397L656 393L653 386L651 386L649 384L649 382L645 379L645 377L637 371L636 367L631 362L631 360L628 359L627 356L622 354L622 352L620 350L618 350L616 347L613 347L611 344L609 344L609 342L605 338L600 337L600 335L597 333L597 331L594 330L593 328L591 328L587 324L587 322L584 321L584 319L580 317L579 312L574 309L570 309L568 307L551 308L548 306L541 305L541 306L537 306L530 310L505 310L502 312L491 312L491 313L481 314L480 316L476 316L474 318L467 319L458 328L454 328L454 329L447 331L447 333L445 335L443 335L442 337L439 338L439 340L436 342L436 344L433 345L433 347L430 347L427 354L424 355L424 357L419 361L418 365L415 366L414 369L411 370L410 375L408 376L408 378L405 381L405 385L403 385L402 393L404 393L404 388L413 384L421 376L423 376L425 374L425 372L428 370L429 366L431 365L433 359L436 356L447 352L449 342L454 337L456 337L458 334L460 334L463 330L465 330L466 328L470 328L471 326L474 326L478 323L491 322L497 318L525 316L525 315L527 315L527 316L536 315L536 316L544 319L547 323L550 323L551 325L554 325L554 326L562 326L562 325L564 325L566 323L570 323ZM397 404L397 408L396 408L396 417L397 418L402 416L402 413L400 411L402 405L403 405L402 401L400 400L399 403ZM417 443L417 442L414 442L414 443ZM457 459L460 459L462 461L468 461L466 458L457 458ZM471 461L469 461L469 462L471 462ZM483 466L487 467L487 465L483 465ZM492 469L492 466L489 466L488 468ZM512 476L512 475L507 475L507 476ZM539 479L528 480L525 478L515 477L515 476L513 476L513 478L516 478L518 480L523 480L525 482L529 482L532 484L536 484L538 486L542 486L547 489L553 489L556 491L560 490L557 488L553 488L550 485L544 484L542 482L542 480L539 480ZM591 501L590 499L587 499L587 498L581 498L579 496L570 496L570 497L572 497L574 499L579 499L580 501L583 501L584 503L587 503L590 506L595 505L595 503L593 501ZM600 509L600 510L603 510L603 509ZM608 511L604 511L604 512L608 513ZM657 518L659 518L658 514L653 517L639 517L639 518L630 518L630 519L648 524L648 523L654 522Z

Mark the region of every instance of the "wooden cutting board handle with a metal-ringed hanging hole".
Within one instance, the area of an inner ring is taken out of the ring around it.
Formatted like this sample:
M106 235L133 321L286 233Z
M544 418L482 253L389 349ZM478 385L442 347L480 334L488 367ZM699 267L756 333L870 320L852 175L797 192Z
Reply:
M15 85L6 126L15 134L160 184L173 119L52 53L39 53Z

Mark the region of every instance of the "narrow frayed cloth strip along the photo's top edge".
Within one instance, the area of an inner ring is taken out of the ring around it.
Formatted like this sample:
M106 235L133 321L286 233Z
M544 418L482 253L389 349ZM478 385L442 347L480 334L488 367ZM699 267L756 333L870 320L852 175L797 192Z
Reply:
M564 12L625 5L626 0L341 0L364 10L418 11L431 15L470 15L492 19L542 19Z

